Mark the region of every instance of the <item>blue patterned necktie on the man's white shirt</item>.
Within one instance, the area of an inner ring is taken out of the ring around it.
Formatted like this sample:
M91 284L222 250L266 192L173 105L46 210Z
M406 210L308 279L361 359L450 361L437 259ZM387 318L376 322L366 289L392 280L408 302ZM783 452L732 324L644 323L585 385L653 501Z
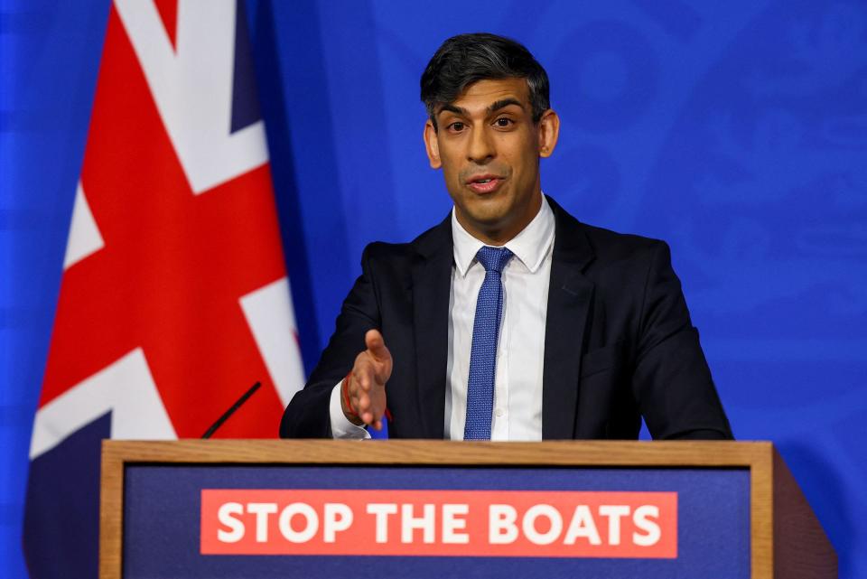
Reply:
M506 247L482 247L476 259L485 267L485 281L476 302L470 350L470 384L467 388L467 422L464 440L490 440L490 415L494 406L499 318L503 313L503 285L499 275L511 259Z

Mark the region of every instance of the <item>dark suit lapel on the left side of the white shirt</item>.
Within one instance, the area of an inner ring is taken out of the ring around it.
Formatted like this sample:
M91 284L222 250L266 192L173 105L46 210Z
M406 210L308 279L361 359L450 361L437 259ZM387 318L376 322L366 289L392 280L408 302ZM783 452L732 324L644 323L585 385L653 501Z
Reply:
M452 220L446 218L413 243L413 315L418 416L425 437L443 438L452 290Z

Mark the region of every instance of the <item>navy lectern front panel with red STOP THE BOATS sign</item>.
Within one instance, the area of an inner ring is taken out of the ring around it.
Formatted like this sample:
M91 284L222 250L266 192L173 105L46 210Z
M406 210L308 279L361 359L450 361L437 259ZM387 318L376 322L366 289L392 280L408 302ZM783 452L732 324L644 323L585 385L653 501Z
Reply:
M748 468L132 462L123 496L126 579L750 577Z

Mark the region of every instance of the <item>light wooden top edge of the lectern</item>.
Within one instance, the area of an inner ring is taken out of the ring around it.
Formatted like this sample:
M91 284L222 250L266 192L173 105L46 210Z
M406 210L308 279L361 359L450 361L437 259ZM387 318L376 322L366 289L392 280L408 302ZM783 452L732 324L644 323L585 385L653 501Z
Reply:
M104 441L104 459L123 462L306 464L545 464L770 469L769 442L180 440Z

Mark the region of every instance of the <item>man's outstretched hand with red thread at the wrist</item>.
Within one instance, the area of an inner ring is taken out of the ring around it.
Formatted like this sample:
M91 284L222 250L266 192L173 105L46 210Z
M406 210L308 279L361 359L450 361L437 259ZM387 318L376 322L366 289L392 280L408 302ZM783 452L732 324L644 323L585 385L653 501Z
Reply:
M368 330L364 343L367 350L356 357L340 400L351 423L380 430L386 412L386 382L391 378L391 352L378 330Z

